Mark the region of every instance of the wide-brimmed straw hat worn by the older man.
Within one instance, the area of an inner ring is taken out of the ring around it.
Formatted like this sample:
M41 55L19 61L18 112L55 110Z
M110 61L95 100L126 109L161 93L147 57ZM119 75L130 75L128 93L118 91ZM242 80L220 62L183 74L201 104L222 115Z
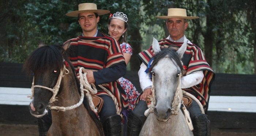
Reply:
M159 19L181 18L181 19L197 19L198 16L187 16L187 10L183 8L168 8L167 16L155 16Z

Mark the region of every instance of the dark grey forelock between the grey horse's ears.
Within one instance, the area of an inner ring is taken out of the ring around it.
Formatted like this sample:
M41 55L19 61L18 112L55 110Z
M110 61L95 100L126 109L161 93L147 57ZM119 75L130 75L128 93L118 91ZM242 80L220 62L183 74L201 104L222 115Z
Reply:
M162 58L165 58L166 55L168 55L168 57L170 58L171 61L176 62L178 67L180 67L180 69L181 69L181 73L184 74L183 65L181 63L180 56L176 53L176 50L172 47L162 48L159 53L155 54L155 56L153 57L154 61L153 61L152 65L150 66L150 69L152 69L155 65L157 65L159 60L161 60Z

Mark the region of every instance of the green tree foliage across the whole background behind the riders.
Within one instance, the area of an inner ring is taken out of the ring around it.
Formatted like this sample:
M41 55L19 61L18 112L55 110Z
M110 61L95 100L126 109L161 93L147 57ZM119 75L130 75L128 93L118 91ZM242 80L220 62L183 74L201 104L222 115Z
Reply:
M134 52L146 50L152 37L163 39L168 34L164 19L168 8L185 8L188 20L185 35L204 52L212 47L212 68L220 73L252 74L254 72L253 47L256 46L256 24L253 0L0 0L0 61L25 61L38 46L62 44L82 33L78 18L65 13L78 10L80 3L96 3L98 9L112 14L121 11L128 15L128 43ZM100 16L98 30L108 33L109 15ZM139 31L138 31L139 30ZM210 33L209 33L210 32ZM140 34L139 34L140 33ZM143 38L140 38L140 35ZM205 38L212 42L206 45ZM136 54L134 54L136 55ZM133 56L134 56L133 55ZM135 60L135 58L134 58ZM132 61L132 59L131 59ZM133 63L131 62L131 65Z

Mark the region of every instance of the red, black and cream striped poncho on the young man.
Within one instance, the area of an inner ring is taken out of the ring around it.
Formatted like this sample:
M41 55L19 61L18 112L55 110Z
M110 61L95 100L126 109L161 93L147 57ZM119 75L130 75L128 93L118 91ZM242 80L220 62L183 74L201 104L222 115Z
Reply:
M95 85L101 84L114 94L120 111L128 108L127 96L118 83L118 78L126 72L126 65L123 53L116 40L98 32L97 37L78 36L68 41L71 41L68 48L69 59L75 67L77 75L80 67L93 71ZM108 95L98 86L97 90L96 95Z

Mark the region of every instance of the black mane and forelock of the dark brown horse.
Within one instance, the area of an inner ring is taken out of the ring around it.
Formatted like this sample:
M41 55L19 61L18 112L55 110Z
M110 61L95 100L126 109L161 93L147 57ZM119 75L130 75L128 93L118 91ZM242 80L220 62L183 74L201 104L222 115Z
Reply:
M72 69L72 73L75 77L76 85L78 88L79 94L80 92L80 81L76 76L75 68L72 63L69 61L68 53L62 47L62 44L53 44L46 45L37 48L34 50L29 57L26 59L23 70L25 70L28 74L37 73L41 74L41 71L50 70L50 69L62 69L64 67L63 59L68 62L69 66ZM91 110L89 105L89 100L87 97L84 97L83 100L84 107L88 110L90 116L93 118L96 123L99 133L101 136L104 135L102 131L102 125L97 117L97 115Z

